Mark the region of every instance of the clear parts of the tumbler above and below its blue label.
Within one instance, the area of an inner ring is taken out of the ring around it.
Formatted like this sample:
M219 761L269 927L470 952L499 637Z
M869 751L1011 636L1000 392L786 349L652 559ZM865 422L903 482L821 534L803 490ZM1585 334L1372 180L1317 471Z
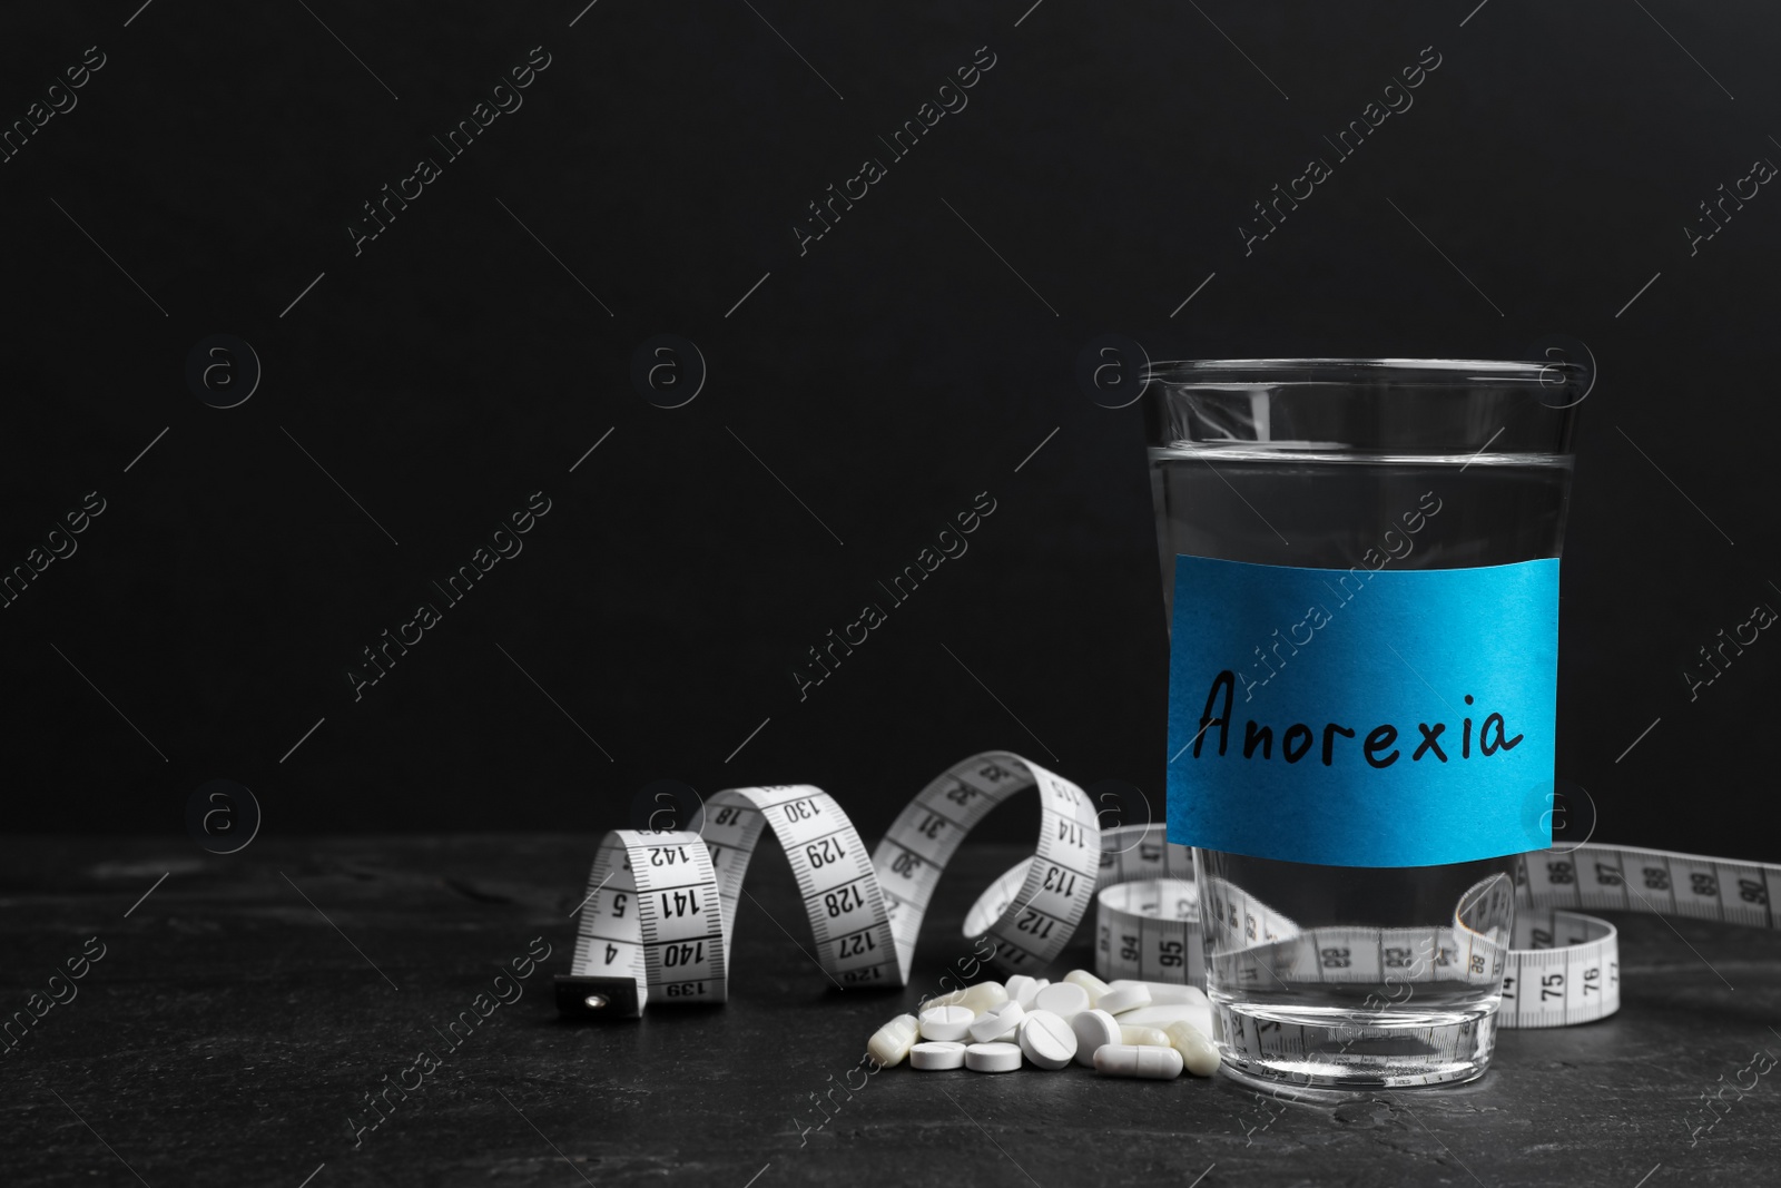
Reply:
M1427 511L1428 493L1439 515L1395 568L1557 557L1587 381L1562 362L1152 365L1145 420L1170 620L1177 554L1348 568L1403 513ZM1512 857L1391 869L1200 848L1193 858L1227 1074L1268 1088L1484 1074Z

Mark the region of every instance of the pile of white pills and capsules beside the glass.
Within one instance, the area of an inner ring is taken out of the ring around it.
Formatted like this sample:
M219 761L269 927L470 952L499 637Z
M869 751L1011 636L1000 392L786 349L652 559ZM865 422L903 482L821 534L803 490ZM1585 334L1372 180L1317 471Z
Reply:
M1070 1062L1106 1076L1167 1081L1211 1076L1218 1049L1211 1003L1199 987L1161 981L1106 983L1086 969L1063 981L1015 974L980 981L921 1005L878 1028L866 1053L883 1067L1013 1072L1022 1063L1063 1069Z

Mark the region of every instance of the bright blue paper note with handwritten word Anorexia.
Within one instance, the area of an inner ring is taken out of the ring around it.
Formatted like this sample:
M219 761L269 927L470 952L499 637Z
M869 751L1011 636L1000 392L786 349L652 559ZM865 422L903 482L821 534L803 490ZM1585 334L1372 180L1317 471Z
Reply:
M1323 866L1551 846L1558 559L1175 557L1168 841Z

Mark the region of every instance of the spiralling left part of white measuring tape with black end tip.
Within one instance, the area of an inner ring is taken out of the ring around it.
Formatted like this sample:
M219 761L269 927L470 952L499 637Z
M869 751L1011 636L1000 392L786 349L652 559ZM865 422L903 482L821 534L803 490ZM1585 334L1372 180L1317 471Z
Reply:
M928 784L871 857L841 805L809 784L725 789L705 801L702 832L613 830L588 873L572 972L556 980L557 1008L636 1017L654 996L725 1001L736 907L768 826L791 862L823 972L841 987L907 985L946 862L985 814L1028 789L1040 798L1037 855L1022 864L1015 894L994 912L980 899L969 923L994 942L992 964L1044 969L1094 898L1095 809L1038 764L985 752Z

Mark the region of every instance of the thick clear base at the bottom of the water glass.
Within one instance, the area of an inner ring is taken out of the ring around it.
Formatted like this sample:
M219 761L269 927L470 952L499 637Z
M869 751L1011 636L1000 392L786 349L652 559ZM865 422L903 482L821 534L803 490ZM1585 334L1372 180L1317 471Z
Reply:
M1496 1001L1468 1010L1213 1003L1224 1072L1266 1092L1459 1085L1484 1076Z

